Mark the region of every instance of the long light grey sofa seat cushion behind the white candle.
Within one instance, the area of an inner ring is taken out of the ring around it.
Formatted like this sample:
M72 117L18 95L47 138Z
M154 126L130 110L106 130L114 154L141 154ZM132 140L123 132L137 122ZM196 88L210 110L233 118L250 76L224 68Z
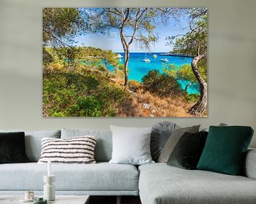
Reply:
M127 164L52 164L56 191L138 191L137 168ZM1 164L0 191L43 191L47 164Z

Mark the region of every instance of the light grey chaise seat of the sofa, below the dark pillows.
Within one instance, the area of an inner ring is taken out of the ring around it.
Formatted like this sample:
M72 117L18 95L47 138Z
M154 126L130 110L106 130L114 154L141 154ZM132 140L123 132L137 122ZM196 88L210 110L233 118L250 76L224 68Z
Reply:
M255 203L256 180L163 163L139 166L142 204Z

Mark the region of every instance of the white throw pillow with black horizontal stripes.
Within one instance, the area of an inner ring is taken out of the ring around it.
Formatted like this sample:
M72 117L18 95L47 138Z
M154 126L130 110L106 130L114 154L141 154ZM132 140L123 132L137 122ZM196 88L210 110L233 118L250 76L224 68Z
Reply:
M66 139L43 138L41 158L38 163L53 164L95 164L95 136L72 137Z

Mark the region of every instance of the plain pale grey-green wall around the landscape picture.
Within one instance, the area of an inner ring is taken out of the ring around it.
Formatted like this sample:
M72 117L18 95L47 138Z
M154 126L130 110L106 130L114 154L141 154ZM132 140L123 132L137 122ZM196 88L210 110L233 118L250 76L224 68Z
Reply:
M54 6L208 7L208 118L43 118L42 8ZM250 125L256 131L255 8L255 0L0 0L0 129L104 130L171 120L181 126Z

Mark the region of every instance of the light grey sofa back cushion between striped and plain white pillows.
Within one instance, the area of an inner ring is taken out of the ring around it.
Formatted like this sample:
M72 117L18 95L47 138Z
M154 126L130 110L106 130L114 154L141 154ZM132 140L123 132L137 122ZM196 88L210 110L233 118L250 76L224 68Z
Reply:
M110 130L73 130L61 129L61 138L93 135L96 137L96 162L109 162L112 158L112 132Z

